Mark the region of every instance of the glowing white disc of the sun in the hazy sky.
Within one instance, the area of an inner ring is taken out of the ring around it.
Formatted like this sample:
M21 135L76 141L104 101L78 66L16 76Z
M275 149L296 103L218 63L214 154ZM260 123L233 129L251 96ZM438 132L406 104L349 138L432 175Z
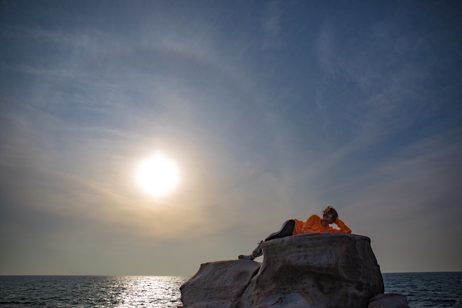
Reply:
M136 173L141 188L155 197L173 191L179 178L180 172L176 163L162 154L155 154L142 161Z

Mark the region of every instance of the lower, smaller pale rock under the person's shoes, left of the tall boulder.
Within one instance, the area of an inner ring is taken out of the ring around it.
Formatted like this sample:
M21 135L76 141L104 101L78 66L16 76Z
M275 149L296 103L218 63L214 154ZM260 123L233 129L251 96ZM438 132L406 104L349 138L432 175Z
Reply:
M241 296L261 263L230 260L201 264L199 271L180 287L184 307L230 307Z

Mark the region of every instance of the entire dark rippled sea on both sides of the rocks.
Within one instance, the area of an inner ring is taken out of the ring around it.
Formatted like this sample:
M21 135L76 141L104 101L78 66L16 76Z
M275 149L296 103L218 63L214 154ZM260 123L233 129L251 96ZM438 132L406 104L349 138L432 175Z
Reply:
M385 293L409 307L462 307L462 272L382 273ZM159 307L182 305L186 276L0 276L0 307Z

